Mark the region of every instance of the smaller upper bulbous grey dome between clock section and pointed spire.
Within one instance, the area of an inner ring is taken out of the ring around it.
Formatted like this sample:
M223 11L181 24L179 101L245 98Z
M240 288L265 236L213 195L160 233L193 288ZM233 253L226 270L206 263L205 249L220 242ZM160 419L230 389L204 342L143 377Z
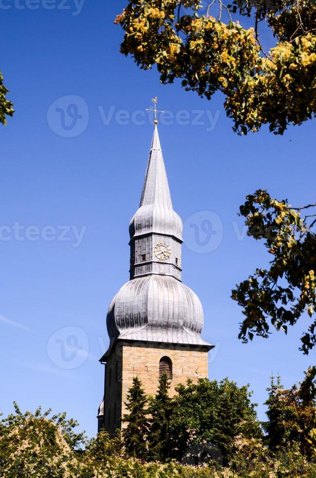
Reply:
M141 206L130 220L130 239L152 232L182 240L182 229L182 220L172 207L148 204Z

